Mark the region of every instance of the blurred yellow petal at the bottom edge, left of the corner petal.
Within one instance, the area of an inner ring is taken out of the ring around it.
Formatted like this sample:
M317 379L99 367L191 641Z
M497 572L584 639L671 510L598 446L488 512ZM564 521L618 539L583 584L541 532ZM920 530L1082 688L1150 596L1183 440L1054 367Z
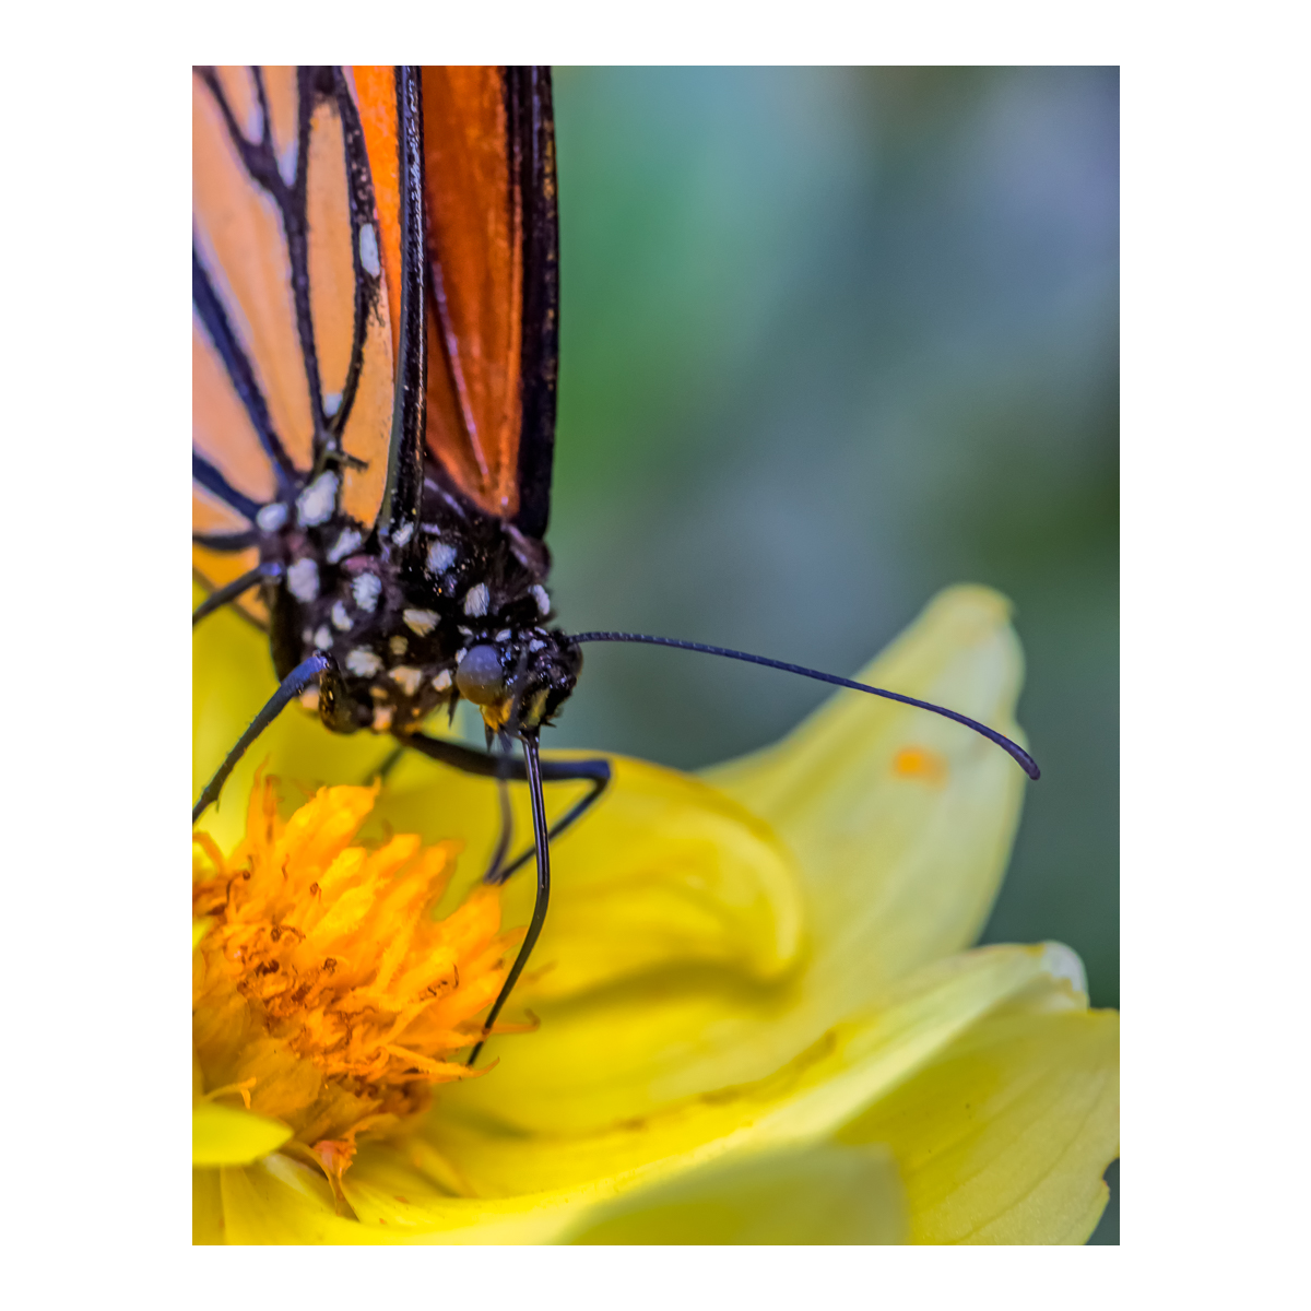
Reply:
M579 1244L901 1243L906 1217L889 1154L815 1143L714 1162L590 1213Z

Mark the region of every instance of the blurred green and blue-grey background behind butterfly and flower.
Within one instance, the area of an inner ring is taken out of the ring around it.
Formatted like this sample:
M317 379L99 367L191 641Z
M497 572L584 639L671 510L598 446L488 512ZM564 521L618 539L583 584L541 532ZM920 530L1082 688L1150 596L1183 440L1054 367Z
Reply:
M1096 1006L1120 999L1118 90L1114 68L555 83L564 624L850 674L941 586L1006 593L1044 777L985 940L1068 943ZM593 646L551 745L692 768L823 696Z

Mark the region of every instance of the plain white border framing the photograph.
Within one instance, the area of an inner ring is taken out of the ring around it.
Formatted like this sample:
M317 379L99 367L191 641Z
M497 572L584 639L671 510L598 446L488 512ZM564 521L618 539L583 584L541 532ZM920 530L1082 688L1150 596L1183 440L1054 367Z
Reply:
M701 0L471 16L265 0L12 20L3 914L16 1286L117 1287L146 1304L606 1307L834 1294L990 1304L1040 1280L1049 1299L1100 1307L1130 1287L1118 1253L1058 1270L1046 1262L1065 1259L1034 1253L187 1247L173 1146L185 1089L168 1037L186 1023L172 970L190 801L178 766L185 69L194 54L252 46L261 58L323 46L447 60L1124 64L1127 1259L1137 1291L1151 1280L1172 1301L1280 1286L1302 1228L1307 1032L1308 241L1293 12Z

